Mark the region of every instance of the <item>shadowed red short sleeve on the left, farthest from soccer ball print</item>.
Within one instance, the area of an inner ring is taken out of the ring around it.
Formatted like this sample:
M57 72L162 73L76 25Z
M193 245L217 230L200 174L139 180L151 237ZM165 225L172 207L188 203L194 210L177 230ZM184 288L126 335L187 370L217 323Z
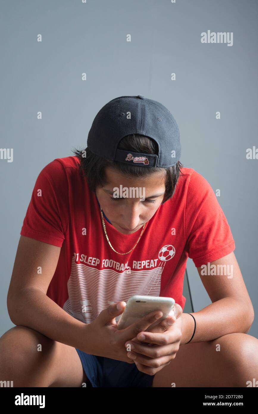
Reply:
M36 179L20 234L61 247L68 221L67 197L65 168L54 160Z

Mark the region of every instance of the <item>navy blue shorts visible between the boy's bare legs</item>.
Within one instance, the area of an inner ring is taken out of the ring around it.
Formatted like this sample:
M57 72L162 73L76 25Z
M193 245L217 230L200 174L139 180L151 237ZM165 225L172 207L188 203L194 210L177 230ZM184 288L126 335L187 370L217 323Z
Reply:
M152 387L155 375L141 372L135 363L86 354L75 348L90 387Z

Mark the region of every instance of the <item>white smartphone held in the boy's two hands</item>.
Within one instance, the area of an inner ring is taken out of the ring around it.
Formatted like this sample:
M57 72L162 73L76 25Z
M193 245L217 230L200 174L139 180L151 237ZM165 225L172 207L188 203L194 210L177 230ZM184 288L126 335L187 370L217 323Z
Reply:
M130 296L126 307L124 308L124 312L117 323L117 329L125 329L132 323L137 322L137 320L144 318L148 313L153 312L154 310L161 310L163 313L162 317L150 325L146 329L146 331L148 331L155 325L158 325L163 319L167 318L174 307L174 303L175 301L173 298L162 296Z

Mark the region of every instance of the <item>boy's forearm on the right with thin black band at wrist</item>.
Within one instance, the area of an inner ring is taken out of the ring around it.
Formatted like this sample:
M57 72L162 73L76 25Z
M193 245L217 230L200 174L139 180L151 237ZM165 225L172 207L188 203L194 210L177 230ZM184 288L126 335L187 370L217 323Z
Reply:
M252 324L251 310L237 298L227 297L206 306L198 312L191 312L196 319L196 331L191 342L211 341L234 332L247 332ZM180 345L191 339L194 320L188 313L182 313L183 327ZM191 343L190 342L190 343Z

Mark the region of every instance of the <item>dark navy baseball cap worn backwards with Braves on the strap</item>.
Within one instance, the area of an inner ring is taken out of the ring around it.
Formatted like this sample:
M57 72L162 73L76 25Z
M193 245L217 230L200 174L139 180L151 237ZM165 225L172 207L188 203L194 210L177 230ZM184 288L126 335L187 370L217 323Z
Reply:
M118 149L120 140L131 134L155 140L158 153ZM171 167L181 156L179 129L172 113L143 95L119 96L106 103L93 120L87 147L110 161L146 167Z

